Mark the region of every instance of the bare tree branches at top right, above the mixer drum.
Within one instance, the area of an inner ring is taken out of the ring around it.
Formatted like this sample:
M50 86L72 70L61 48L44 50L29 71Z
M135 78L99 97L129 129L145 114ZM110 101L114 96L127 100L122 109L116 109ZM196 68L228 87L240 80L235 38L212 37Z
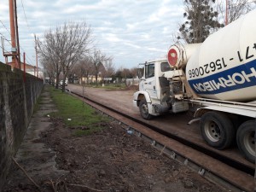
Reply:
M220 20L225 20L225 6L226 0L220 0L216 4L217 11L221 16ZM237 20L241 15L247 14L253 9L253 5L256 3L249 2L248 0L230 0L228 5L228 23Z

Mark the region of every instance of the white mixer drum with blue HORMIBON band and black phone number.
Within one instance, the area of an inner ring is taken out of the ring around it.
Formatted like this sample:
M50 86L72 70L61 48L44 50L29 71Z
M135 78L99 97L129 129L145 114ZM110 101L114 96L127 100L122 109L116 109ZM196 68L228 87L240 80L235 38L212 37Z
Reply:
M186 77L198 96L256 100L256 9L210 35L189 58Z

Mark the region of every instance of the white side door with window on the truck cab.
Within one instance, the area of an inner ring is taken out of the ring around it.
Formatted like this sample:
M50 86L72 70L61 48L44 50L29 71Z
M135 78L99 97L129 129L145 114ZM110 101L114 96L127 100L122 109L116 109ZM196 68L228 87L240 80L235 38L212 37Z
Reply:
M151 98L157 98L155 89L154 63L148 63L145 66L145 81L143 82L144 90L148 91Z

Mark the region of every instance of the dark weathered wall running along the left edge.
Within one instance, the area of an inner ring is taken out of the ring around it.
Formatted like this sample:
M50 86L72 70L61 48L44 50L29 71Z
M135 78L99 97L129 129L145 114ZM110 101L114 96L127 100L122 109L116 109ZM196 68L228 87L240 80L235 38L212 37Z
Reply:
M0 62L0 191L44 86L42 79Z

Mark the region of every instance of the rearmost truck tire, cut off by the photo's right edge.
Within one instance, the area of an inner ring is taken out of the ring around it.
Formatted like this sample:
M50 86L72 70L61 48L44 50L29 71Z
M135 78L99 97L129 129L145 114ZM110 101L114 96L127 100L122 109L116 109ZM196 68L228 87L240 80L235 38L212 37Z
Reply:
M241 154L252 163L255 163L255 129L254 120L248 120L241 124L236 133L236 143Z

